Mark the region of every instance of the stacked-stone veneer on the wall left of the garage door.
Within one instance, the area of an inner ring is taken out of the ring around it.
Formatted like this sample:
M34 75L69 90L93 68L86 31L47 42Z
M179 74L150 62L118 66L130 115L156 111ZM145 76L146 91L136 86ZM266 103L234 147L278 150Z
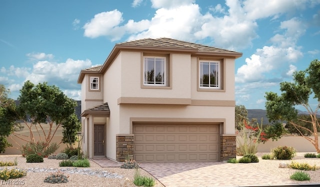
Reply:
M116 135L116 161L133 159L133 135Z

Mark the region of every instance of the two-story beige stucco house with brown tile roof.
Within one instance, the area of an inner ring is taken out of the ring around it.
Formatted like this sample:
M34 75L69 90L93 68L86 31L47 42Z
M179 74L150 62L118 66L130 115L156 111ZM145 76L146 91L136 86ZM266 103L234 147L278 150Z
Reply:
M89 158L210 162L235 157L234 61L242 53L170 38L115 44L81 70Z

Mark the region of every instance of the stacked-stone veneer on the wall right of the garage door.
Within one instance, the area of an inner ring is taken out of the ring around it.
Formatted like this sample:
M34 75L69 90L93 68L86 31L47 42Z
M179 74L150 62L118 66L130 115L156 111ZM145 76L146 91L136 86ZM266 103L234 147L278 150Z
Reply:
M236 136L220 136L220 161L227 161L236 158Z

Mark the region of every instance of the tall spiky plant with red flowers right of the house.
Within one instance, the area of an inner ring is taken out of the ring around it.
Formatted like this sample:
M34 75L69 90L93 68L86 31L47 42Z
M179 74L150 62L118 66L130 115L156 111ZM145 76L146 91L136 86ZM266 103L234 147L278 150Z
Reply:
M243 120L242 130L239 132L239 135L240 137L237 137L236 148L238 155L255 154L258 144L268 140L266 133L263 132L262 123L261 125L257 123L256 126L252 126L246 120Z

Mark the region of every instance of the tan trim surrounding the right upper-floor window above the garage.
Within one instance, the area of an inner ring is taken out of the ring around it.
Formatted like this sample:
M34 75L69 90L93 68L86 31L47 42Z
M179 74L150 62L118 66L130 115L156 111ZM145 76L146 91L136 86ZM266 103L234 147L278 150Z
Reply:
M201 87L200 81L201 81L201 62L218 62L218 87ZM225 92L224 90L224 75L225 75L225 67L224 67L224 59L207 59L207 58L198 58L197 59L197 91L213 91L213 92Z

